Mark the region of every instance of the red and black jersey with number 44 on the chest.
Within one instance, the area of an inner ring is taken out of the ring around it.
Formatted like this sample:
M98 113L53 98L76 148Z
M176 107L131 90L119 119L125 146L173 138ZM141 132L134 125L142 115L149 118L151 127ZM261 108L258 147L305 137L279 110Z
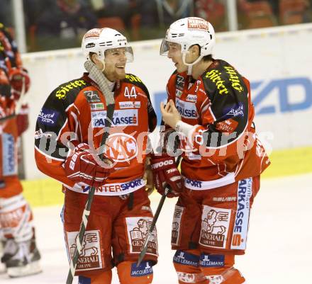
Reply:
M144 186L147 135L157 123L149 93L137 76L126 74L126 79L118 81L114 97L113 124L104 155L116 162L117 171L96 189L99 195L121 195ZM69 149L68 141L78 140L98 149L106 109L99 86L87 73L52 91L37 119L35 161L38 169L66 188L84 192L85 186L67 178L62 167Z

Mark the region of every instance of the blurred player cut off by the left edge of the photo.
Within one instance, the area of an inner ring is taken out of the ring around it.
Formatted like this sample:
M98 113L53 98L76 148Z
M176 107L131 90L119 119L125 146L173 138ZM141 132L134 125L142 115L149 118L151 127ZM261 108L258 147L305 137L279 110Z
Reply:
M16 43L0 23L0 238L4 244L1 262L11 277L41 271L33 213L23 198L17 174L18 138L28 128L28 105L23 104L18 110L16 105L29 86Z

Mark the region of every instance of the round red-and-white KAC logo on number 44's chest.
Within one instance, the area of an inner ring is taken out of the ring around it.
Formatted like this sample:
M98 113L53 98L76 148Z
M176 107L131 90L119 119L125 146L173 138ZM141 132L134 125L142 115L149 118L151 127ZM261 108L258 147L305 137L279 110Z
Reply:
M106 157L113 161L130 161L138 154L138 146L135 138L126 133L114 133L108 136L106 142Z

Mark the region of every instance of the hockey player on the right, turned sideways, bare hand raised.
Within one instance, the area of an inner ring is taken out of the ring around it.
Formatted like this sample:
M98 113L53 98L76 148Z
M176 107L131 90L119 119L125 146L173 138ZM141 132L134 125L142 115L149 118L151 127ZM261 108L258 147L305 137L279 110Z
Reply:
M269 166L252 123L250 83L212 57L214 45L211 23L183 18L170 25L160 49L177 68L161 111L169 140L180 137L181 176L166 153L152 159L152 168L160 193L182 179L171 193L179 196L172 223L179 283L245 282L235 255L245 252L250 208Z

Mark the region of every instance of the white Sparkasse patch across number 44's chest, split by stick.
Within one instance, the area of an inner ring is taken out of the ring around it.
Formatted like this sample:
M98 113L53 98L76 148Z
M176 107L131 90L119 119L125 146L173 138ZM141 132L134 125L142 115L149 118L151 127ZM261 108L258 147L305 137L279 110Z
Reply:
M106 110L91 112L92 127L104 127L106 119ZM138 110L137 109L125 109L115 110L113 113L113 125L112 126L130 126L138 125Z

